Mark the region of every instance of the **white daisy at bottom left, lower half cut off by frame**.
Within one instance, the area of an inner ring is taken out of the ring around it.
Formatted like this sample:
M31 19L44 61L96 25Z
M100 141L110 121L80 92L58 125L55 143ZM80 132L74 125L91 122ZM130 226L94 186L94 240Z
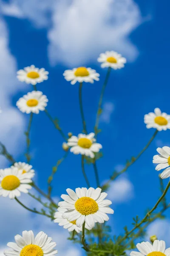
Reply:
M32 230L23 231L23 236L16 235L15 242L9 242L7 244L12 250L5 250L6 256L53 256L57 253L54 249L55 242L52 242L52 238L48 237L44 232L39 232L34 237Z

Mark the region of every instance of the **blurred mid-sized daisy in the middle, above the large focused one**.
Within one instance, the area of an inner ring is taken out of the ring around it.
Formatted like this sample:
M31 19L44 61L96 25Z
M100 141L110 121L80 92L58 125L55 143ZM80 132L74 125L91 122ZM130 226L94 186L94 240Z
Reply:
M94 158L94 152L99 152L102 145L95 143L95 134L91 132L90 134L79 134L76 136L71 136L68 139L67 145L71 147L70 151L74 154L82 154Z

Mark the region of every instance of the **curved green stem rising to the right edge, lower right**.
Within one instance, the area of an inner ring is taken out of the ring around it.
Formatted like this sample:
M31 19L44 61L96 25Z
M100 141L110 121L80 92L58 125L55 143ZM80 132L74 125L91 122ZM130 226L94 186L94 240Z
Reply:
M142 219L142 221L139 222L139 224L137 224L135 227L133 227L132 230L130 230L129 232L127 232L127 234L119 241L119 244L122 243L122 241L124 241L134 230L136 230L136 228L138 228L142 223L144 223L144 221L146 221L146 218L150 216L150 214L156 209L156 207L159 205L159 203L161 202L161 200L164 198L164 196L166 195L168 189L170 187L170 181L167 184L164 193L161 195L161 197L159 198L159 200L156 202L156 204L154 205L154 207L147 212L147 214L144 216L144 218Z

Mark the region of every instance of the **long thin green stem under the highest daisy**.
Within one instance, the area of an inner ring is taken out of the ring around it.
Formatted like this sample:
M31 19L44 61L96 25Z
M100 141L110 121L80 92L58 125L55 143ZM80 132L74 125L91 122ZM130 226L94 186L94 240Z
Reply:
M108 67L108 72L106 74L105 81L104 81L104 84L103 84L103 87L102 87L102 91L101 91L101 95L100 95L100 99L99 99L99 105L98 105L97 114L96 114L95 135L97 135L97 129L98 129L98 126L99 126L99 118L100 118L100 115L102 113L102 108L101 107L102 107L103 96L104 96L104 93L105 93L105 88L108 84L108 79L109 79L110 73L111 73L111 67Z

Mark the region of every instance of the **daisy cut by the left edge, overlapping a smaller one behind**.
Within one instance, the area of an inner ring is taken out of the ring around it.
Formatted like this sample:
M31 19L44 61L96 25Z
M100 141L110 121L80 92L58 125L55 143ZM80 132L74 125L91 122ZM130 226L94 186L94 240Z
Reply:
M22 174L22 170L18 171L15 167L13 169L0 169L0 196L9 196L10 199L19 197L21 192L28 193L31 189L29 183L32 182L27 173Z

